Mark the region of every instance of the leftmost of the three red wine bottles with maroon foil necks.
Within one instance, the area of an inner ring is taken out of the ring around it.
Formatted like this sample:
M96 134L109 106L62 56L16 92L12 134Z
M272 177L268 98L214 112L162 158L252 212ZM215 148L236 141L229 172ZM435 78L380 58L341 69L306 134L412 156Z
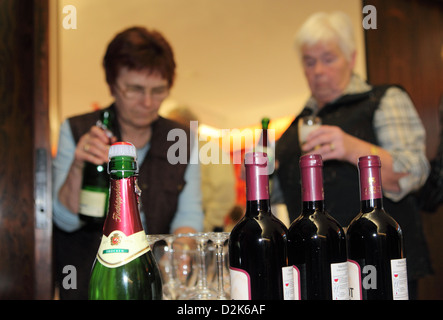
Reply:
M271 212L267 155L245 155L246 212L231 231L229 269L234 300L291 299L287 228Z

